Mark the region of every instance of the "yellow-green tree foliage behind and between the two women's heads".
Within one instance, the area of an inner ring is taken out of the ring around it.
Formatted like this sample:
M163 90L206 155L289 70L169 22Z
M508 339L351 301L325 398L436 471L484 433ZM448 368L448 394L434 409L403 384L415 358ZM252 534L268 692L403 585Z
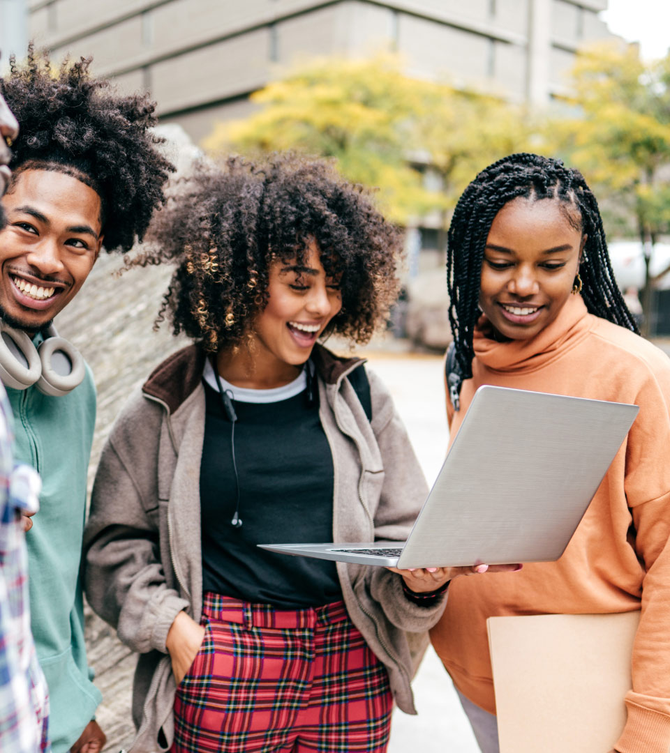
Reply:
M334 157L347 178L378 187L382 207L401 224L439 212L445 227L476 172L522 148L528 133L519 108L410 78L393 56L313 60L252 101L258 111L220 123L203 143L207 151Z

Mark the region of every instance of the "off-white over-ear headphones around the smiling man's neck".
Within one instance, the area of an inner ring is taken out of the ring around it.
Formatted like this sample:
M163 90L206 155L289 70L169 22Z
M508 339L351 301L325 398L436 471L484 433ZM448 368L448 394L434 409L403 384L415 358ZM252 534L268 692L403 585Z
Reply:
M47 339L35 348L29 335L0 321L0 380L6 387L28 389L35 385L44 395L63 397L84 380L81 353L54 325Z

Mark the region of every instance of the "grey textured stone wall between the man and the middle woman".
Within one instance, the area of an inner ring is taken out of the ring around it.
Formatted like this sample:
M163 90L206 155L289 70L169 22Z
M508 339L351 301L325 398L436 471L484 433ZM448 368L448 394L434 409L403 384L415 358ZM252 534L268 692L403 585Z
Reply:
M121 255L103 254L84 286L55 322L58 332L81 350L93 370L98 414L88 482L89 491L100 450L128 395L163 358L186 343L164 324L152 331L171 270L148 267L115 276ZM118 753L133 739L130 694L136 658L115 630L86 608L88 660L102 691L97 719L108 737L106 751Z

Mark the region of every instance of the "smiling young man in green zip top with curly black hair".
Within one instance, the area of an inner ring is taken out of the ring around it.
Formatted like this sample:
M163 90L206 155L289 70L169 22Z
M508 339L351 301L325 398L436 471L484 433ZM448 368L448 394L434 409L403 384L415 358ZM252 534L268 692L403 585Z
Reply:
M89 65L66 61L54 70L30 47L26 64L11 60L0 79L0 95L20 123L2 199L0 327L26 333L35 347L49 342L50 322L78 293L100 249L127 252L142 239L173 169L151 133L154 105L145 96L116 95L90 76ZM38 364L49 377L53 364L44 358ZM43 483L26 539L50 739L54 753L96 753L105 735L94 721L101 696L87 666L80 581L95 386L85 367L81 383L64 395L45 394L38 383L20 387L7 389L16 455Z

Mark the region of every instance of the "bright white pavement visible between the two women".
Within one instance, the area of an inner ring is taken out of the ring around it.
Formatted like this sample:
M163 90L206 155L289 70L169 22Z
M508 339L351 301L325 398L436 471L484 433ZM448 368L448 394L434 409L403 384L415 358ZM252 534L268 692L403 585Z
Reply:
M366 352L369 367L384 380L418 455L428 483L437 476L447 448L442 358ZM396 711L389 753L479 753L454 686L432 648L414 682L417 716Z

